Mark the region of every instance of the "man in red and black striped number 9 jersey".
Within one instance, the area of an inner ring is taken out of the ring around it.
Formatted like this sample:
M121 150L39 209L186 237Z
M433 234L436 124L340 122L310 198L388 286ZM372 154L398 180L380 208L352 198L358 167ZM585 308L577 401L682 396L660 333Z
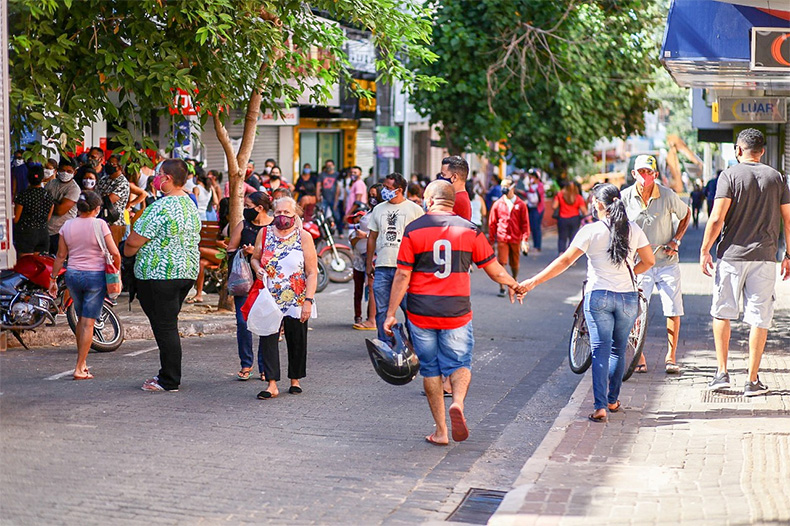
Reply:
M425 189L428 214L406 227L398 251L398 270L392 283L384 330L391 334L395 313L408 291L409 334L420 358L425 394L436 430L425 437L447 445L442 375L450 378L452 437L466 440L464 399L472 378L472 303L469 267L475 263L488 276L515 292L518 282L500 265L486 237L474 224L453 214L455 190L447 181ZM511 293L511 301L513 294Z

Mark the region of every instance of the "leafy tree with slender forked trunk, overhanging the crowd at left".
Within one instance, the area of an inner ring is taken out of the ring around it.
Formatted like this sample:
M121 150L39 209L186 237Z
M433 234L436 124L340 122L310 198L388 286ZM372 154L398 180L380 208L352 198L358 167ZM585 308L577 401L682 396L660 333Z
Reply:
M348 77L342 27L372 32L381 80L424 89L437 80L403 60L433 60L430 21L418 3L399 0L11 0L10 72L14 138L39 130L44 142L74 151L82 128L120 123L125 156L138 158L137 123L168 115L174 90L192 94L202 123L214 119L228 157L231 219L240 217L241 177L262 109L279 111L303 93L326 100ZM315 82L314 79L318 79ZM363 93L364 95L364 93ZM234 152L227 108L245 108L245 131ZM42 145L27 145L41 157ZM146 146L151 146L146 144Z

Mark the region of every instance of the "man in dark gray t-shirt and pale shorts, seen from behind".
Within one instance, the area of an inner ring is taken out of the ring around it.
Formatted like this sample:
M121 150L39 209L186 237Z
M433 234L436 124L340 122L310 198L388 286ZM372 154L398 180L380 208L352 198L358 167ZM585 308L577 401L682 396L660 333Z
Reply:
M768 392L758 371L773 319L775 257L782 221L785 237L790 239L790 188L786 177L760 162L764 153L765 137L759 130L747 128L738 134L735 157L740 164L719 176L716 200L700 248L702 272L710 276L714 268L710 249L722 233L716 252L711 307L718 361L718 371L708 384L711 391L730 387L727 372L730 320L738 319L745 297L743 321L751 325L751 333L749 379L743 394L756 396ZM782 260L782 278L790 278L787 253Z

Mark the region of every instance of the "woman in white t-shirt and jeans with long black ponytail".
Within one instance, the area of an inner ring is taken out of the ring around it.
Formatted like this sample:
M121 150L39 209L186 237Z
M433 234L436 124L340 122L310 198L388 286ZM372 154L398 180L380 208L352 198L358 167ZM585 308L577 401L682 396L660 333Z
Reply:
M592 195L600 221L582 227L564 253L522 286L530 291L587 254L584 318L590 329L595 398L588 418L605 422L607 407L613 413L620 410L625 349L639 307L635 275L652 267L655 256L642 229L628 221L616 186L599 184ZM639 262L634 264L636 254Z

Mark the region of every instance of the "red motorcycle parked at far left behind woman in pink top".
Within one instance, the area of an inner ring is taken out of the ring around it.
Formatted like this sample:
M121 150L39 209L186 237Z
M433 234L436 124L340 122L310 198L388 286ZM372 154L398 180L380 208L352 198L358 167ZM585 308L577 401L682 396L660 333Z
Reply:
M44 323L55 325L60 312L65 311L71 331L77 330L77 313L66 289L65 269L58 273L57 296L53 298L48 292L54 263L55 258L50 255L25 255L13 269L0 271L0 330L10 331L26 349L19 333ZM98 352L114 351L123 343L123 323L115 314L114 305L105 298L101 315L94 324L91 348Z

